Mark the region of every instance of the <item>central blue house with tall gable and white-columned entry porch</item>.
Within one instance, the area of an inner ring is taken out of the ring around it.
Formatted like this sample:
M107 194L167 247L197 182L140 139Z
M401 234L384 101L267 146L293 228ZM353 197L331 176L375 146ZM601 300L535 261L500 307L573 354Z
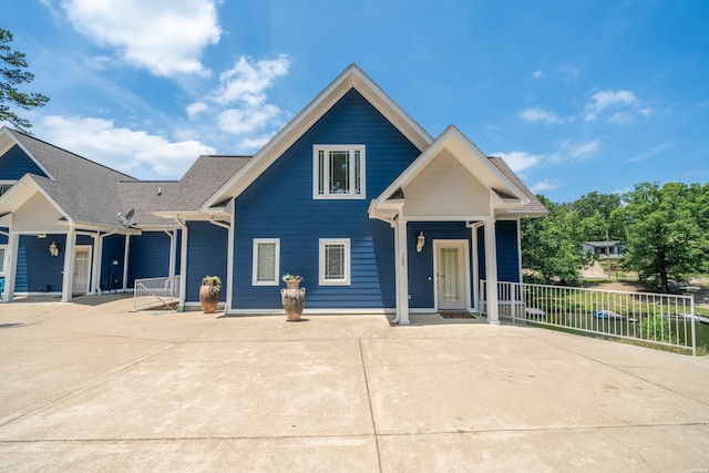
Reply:
M307 312L407 325L479 310L485 279L496 322L496 281L522 280L520 219L546 214L502 158L454 126L432 137L357 65L232 163L202 203L154 213L182 226L183 309L216 274L226 312L278 312L291 273L306 278Z

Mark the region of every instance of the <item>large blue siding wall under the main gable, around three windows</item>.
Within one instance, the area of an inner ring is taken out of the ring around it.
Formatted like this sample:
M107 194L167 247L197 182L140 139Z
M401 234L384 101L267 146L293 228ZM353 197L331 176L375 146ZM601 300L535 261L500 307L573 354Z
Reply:
M366 145L364 199L312 198L314 144ZM254 238L280 238L280 273L306 277L306 307L393 308L393 230L367 210L418 155L357 91L345 94L236 199L233 306L280 308L279 288L251 286ZM320 238L350 238L351 285L318 285Z

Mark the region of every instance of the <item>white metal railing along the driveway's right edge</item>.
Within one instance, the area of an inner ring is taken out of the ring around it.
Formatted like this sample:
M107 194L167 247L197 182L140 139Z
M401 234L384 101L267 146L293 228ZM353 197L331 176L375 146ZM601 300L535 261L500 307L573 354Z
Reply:
M481 310L487 284L480 281ZM697 354L693 296L497 282L500 317L639 340Z

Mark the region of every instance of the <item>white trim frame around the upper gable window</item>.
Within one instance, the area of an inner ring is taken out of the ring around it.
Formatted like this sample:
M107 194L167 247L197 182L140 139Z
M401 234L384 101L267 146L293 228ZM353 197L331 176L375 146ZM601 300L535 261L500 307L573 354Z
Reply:
M328 158L328 154L330 152L342 151L347 152L350 155L350 175L349 179L349 188L350 192L347 194L336 194L330 193L330 187L332 184L329 179L330 174L330 160ZM356 166L353 165L357 161L354 158L354 154L359 151L359 194L354 193L357 188L357 173ZM323 194L320 194L320 156L319 153L323 152L323 169L322 169L322 189ZM312 145L312 198L314 199L363 199L367 198L367 148L363 144L336 144L336 145L325 145L325 144L316 144Z

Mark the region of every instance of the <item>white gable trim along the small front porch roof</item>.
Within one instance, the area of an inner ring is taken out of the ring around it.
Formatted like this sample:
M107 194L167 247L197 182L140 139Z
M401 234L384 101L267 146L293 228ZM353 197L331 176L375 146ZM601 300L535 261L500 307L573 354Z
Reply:
M389 187L377 197L376 206L386 206L387 200L400 188L411 183L439 153L448 148L451 154L489 189L496 189L515 197L515 206L530 203L530 197L505 176L494 164L490 162L473 143L471 143L455 126L450 125L403 173L394 179ZM472 155L475 160L465 160L463 156ZM503 200L495 195L495 207L504 207ZM405 197L404 197L405 199Z

